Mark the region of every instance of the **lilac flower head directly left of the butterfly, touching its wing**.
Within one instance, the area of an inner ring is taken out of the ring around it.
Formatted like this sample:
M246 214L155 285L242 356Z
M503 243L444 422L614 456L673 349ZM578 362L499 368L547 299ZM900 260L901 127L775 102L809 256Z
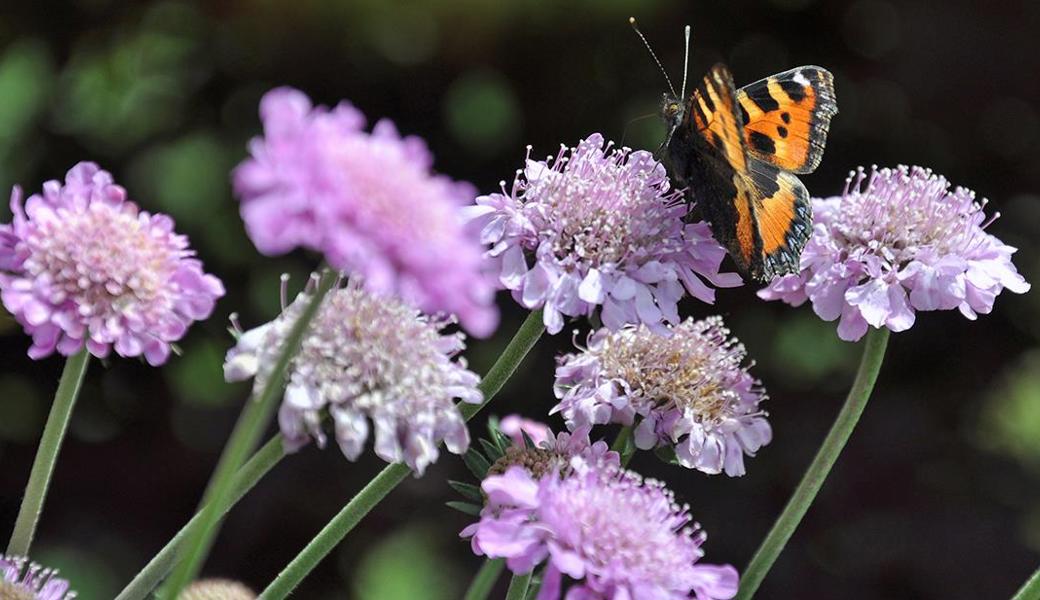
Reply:
M544 161L528 157L512 190L476 199L471 214L491 244L502 286L522 306L544 308L549 333L563 317L601 309L612 330L678 322L683 290L714 302L740 285L720 273L726 251L704 223L685 224L682 192L649 152L605 144L596 133Z

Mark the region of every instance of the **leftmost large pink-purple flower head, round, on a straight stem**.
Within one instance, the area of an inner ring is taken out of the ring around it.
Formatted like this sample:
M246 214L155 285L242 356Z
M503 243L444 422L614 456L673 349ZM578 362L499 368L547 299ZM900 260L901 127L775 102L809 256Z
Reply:
M93 162L43 193L11 191L14 220L0 225L0 295L32 336L29 357L70 356L85 344L106 357L144 356L152 365L224 295L202 270L174 220L127 201Z

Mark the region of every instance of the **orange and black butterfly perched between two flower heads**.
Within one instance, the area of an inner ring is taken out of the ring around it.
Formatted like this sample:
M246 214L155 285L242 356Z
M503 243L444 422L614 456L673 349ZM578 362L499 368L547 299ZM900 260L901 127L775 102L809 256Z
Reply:
M687 27L687 57L688 44ZM684 95L685 76L682 87ZM672 177L697 201L745 280L799 271L812 205L796 174L820 165L837 111L834 77L813 66L737 88L719 63L688 98L674 88L665 95L662 149Z

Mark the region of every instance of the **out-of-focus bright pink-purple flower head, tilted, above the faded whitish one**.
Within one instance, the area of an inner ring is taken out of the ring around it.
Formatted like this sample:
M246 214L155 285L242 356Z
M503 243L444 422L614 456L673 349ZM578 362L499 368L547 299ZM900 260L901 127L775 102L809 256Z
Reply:
M476 195L471 185L434 175L425 144L389 121L366 133L346 102L313 107L280 87L263 97L260 115L264 136L233 183L261 253L320 252L370 291L454 314L474 335L494 331L494 285L461 212Z

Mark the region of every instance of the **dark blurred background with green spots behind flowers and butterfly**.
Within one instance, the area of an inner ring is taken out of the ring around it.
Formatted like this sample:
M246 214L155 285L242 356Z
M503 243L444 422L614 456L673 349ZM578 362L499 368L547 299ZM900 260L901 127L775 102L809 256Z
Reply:
M656 110L660 74L628 28L634 15L676 79L682 25L692 77L727 61L738 83L800 63L830 69L840 113L826 159L805 177L837 193L857 165L931 166L991 199L990 231L1021 249L1040 281L1040 3L824 0L224 0L4 2L0 8L0 188L37 190L76 161L110 169L144 208L168 212L229 294L161 369L95 362L58 464L34 556L85 600L110 598L186 521L248 389L222 381L226 317L271 318L278 275L301 284L313 256L260 257L242 231L228 172L259 130L261 94L295 85L355 102L425 137L437 167L492 191L525 145L536 155L601 131L619 139ZM656 120L625 142L654 148ZM9 218L5 211L4 220ZM811 310L745 287L723 314L770 391L774 442L739 479L666 468L708 531L707 560L746 565L822 441L859 347ZM978 322L918 314L891 339L870 406L761 598L1007 598L1040 563L1040 349L1037 294L1002 295ZM522 318L468 353L483 372ZM14 523L62 361L25 356L0 320L0 536ZM547 338L491 412L544 416ZM484 415L474 424L483 431ZM552 421L560 426L558 421ZM310 446L237 506L206 573L263 588L383 464ZM479 560L444 507L444 455L396 490L300 588L300 598L458 598ZM5 539L5 538L4 538ZM503 579L504 581L504 579Z

